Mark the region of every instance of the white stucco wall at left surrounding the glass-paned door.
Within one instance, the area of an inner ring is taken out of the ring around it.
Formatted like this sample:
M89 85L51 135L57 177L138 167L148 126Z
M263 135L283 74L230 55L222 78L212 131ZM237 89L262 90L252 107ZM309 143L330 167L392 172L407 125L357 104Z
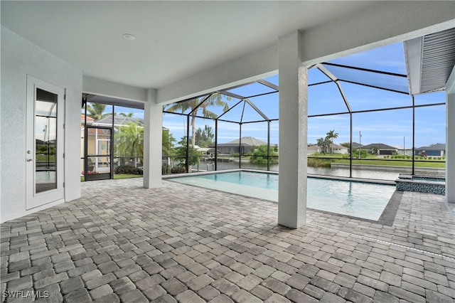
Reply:
M80 197L82 71L1 26L1 222L55 204L26 211L27 75L66 88L65 201Z

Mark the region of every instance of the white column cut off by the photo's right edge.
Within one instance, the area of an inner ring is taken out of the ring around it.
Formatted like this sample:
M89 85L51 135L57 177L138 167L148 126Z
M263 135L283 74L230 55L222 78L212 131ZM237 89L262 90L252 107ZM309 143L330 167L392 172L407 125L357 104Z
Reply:
M455 203L455 68L446 83L446 201Z

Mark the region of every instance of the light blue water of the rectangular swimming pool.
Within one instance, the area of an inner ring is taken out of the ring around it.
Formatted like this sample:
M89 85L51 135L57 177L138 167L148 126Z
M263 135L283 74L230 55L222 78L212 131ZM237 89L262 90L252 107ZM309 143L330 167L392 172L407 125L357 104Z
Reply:
M278 174L234 171L168 180L278 201ZM395 192L391 185L319 178L308 178L307 186L307 207L370 220L380 218Z

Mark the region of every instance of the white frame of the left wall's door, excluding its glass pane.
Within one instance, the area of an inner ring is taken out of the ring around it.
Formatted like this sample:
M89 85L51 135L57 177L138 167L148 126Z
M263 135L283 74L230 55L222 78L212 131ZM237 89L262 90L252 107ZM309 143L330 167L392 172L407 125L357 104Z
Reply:
M36 90L45 90L57 95L57 137L55 145L55 176L56 188L36 192ZM27 100L26 100L26 210L36 208L65 198L65 88L46 83L43 80L27 75Z

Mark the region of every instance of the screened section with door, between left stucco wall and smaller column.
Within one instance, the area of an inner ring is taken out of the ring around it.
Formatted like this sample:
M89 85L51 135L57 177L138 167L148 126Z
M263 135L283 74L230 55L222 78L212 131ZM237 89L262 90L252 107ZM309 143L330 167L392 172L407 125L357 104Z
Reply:
M141 176L144 105L85 94L81 111L81 179Z

